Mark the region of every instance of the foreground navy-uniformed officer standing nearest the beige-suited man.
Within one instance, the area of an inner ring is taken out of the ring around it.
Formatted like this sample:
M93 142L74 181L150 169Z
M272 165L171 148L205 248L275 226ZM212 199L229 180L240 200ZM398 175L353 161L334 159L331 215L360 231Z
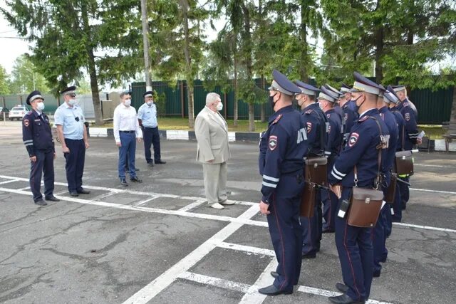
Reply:
M279 265L271 273L274 283L259 293L278 295L293 293L301 273L302 230L299 206L304 189L304 156L307 132L301 114L294 110L292 98L301 90L279 71L273 71L269 101L274 115L261 136L259 172L261 214L267 214L269 233Z

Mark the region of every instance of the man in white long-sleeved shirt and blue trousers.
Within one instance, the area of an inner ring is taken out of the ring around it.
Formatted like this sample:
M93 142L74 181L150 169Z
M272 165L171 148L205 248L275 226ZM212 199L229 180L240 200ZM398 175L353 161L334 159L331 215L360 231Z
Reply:
M120 183L127 187L125 179L125 163L128 159L128 169L130 170L130 181L142 182L136 176L135 153L136 141L141 142L142 131L136 116L136 110L131 106L131 96L129 92L120 93L120 105L114 110L114 138L115 145L119 147L119 179Z

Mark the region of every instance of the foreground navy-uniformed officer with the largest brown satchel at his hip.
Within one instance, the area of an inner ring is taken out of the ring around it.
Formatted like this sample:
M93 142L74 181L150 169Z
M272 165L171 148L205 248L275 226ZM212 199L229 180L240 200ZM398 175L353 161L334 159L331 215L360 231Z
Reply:
M353 125L347 145L328 177L331 189L340 196L337 209L341 208L343 201L350 201L353 187L375 187L378 149L386 145L385 138L389 135L376 108L382 88L359 73L355 72L354 77L356 81L352 91L360 118ZM381 154L383 160L385 152ZM330 297L329 300L338 304L365 303L371 293L373 278L372 228L351 226L347 216L336 216L336 247L344 283L337 283L336 288L343 295Z

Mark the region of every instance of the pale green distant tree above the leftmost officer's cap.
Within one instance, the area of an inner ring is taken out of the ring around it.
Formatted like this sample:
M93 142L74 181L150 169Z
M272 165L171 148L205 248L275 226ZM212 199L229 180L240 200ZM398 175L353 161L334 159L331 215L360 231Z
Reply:
M46 79L38 73L36 66L24 54L14 61L10 92L28 94L33 90L39 90L41 93L49 92Z

